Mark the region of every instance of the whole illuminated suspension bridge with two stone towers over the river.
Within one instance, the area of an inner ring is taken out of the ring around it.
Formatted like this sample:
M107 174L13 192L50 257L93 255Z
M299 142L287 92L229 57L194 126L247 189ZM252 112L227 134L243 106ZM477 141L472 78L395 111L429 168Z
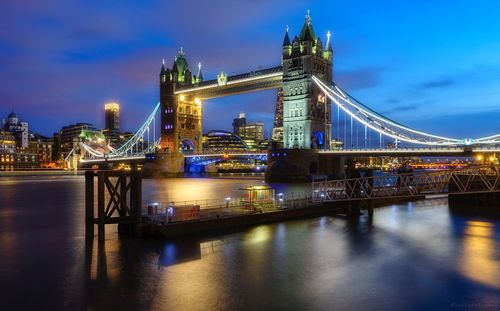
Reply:
M181 173L185 163L194 159L222 159L222 154L203 153L203 101L268 89L278 89L281 95L276 103L275 131L283 133L275 142L280 147L267 156L271 175L310 175L317 171L314 167L336 171L343 167L342 159L349 157L459 156L479 150L498 154L500 134L477 139L435 135L406 127L360 103L333 82L330 33L325 42L323 45L316 36L308 13L298 35L291 39L286 28L280 65L236 75L221 72L211 80L204 80L201 64L196 74L191 71L181 48L172 67L162 63L159 103L136 134L118 149L82 142L81 162L154 158L160 171ZM330 146L333 138L344 143L341 150ZM376 149L371 148L374 142L378 142ZM384 148L387 142L390 148ZM255 154L248 153L248 157Z

